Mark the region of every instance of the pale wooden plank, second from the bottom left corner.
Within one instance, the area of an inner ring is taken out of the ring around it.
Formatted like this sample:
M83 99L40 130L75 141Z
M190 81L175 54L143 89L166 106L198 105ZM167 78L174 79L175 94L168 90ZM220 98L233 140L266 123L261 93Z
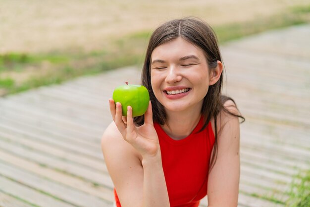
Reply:
M60 201L56 198L42 194L41 192L29 188L28 186L19 184L15 181L9 180L3 176L0 176L1 192L7 195L20 198L28 203L37 206L54 206L54 207L74 207L71 204Z

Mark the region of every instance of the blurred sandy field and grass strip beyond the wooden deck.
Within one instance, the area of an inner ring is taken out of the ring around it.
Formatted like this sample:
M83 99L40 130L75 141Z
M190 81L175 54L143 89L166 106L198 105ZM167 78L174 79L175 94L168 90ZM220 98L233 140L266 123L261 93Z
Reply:
M1 0L0 96L141 65L156 26L185 16L224 45L309 22L310 0Z

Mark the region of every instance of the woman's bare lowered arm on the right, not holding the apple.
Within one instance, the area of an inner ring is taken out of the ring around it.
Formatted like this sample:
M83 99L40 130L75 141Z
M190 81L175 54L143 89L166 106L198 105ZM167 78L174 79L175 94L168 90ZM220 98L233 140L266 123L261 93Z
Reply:
M224 106L238 114L232 101L227 101ZM217 117L217 126L217 157L208 175L208 204L212 207L236 207L240 177L239 119L221 111Z

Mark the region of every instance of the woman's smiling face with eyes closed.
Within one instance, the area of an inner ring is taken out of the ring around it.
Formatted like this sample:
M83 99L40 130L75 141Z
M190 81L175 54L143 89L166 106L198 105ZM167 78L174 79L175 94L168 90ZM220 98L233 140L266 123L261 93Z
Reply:
M204 52L180 37L158 46L151 55L151 84L166 111L201 110L209 86Z

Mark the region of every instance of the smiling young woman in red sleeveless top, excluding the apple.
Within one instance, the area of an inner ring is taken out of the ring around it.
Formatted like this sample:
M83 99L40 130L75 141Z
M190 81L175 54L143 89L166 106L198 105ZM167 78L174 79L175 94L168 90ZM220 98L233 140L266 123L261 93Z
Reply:
M122 116L102 138L117 207L236 207L239 113L221 95L223 64L216 36L197 18L172 20L151 36L142 71L147 112Z

